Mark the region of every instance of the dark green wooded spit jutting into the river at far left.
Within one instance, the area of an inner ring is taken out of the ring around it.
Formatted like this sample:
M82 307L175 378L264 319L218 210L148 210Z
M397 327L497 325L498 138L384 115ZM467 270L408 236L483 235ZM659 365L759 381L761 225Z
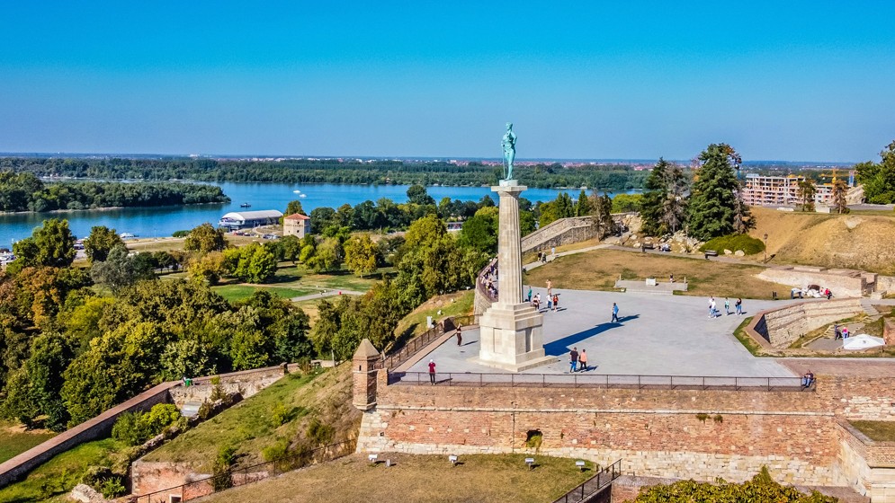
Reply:
M199 183L54 181L31 172L0 172L0 211L157 207L229 202L220 187Z

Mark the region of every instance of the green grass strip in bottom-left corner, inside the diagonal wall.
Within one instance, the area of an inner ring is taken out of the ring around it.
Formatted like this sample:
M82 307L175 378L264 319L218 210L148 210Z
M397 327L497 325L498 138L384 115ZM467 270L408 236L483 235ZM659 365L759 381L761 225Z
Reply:
M62 495L80 483L88 466L112 467L114 454L123 448L123 444L112 438L76 446L41 464L23 481L0 490L0 501L64 501Z

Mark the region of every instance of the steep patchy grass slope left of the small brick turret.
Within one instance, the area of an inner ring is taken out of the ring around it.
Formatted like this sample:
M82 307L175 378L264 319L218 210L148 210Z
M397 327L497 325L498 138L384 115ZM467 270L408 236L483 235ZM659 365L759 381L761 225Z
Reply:
M193 463L198 472L210 472L219 448L237 448L237 466L264 462L265 447L288 443L295 450L316 447L309 438L315 420L332 428L323 443L353 440L361 413L352 402L349 365L319 375L288 375L218 416L183 433L146 456L147 461ZM275 410L285 411L286 422L278 425Z

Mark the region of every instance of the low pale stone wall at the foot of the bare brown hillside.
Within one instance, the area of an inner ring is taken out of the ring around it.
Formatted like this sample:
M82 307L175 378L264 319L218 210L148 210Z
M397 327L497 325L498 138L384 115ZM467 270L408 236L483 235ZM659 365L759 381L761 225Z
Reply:
M834 296L842 298L860 297L873 292L876 275L849 269L783 266L765 269L758 274L758 278L790 287L818 285L829 288Z

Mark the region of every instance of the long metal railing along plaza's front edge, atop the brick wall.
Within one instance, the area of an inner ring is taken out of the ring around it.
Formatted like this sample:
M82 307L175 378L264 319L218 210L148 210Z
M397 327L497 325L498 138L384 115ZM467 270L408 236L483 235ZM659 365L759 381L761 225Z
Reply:
M389 373L389 384L432 384L428 372ZM801 377L723 377L707 375L490 374L439 372L439 386L527 388L631 388L671 390L802 391Z

